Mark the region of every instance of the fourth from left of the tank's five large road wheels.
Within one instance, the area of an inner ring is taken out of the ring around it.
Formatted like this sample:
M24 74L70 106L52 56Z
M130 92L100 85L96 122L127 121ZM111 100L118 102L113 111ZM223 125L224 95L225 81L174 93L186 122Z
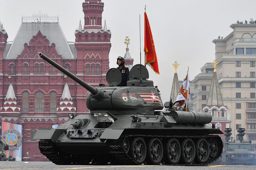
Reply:
M182 158L186 164L191 164L196 157L195 143L191 138L186 138L182 144Z

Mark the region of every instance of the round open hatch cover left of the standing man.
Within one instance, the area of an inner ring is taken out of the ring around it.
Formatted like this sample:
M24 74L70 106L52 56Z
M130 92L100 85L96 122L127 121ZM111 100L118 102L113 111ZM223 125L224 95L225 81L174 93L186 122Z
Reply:
M117 68L110 68L107 71L106 79L110 86L117 86L122 81L122 74Z

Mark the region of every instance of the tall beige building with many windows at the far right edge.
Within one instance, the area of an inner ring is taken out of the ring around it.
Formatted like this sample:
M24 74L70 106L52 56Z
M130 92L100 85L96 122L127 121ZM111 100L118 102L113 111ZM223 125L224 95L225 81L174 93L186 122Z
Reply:
M213 40L220 92L231 115L232 137L246 128L246 140L256 143L256 23L236 23L225 38Z

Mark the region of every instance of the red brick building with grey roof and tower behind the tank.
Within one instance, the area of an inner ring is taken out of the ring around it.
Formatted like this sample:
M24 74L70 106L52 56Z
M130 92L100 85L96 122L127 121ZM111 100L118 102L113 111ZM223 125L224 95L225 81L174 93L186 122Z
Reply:
M75 43L67 42L58 17L22 17L12 43L7 43L8 30L0 23L0 126L2 121L22 125L23 161L46 160L33 139L38 127L63 124L68 113L89 113L88 91L38 52L94 87L107 84L111 32L102 24L104 3L85 0L82 7L84 26L80 21Z

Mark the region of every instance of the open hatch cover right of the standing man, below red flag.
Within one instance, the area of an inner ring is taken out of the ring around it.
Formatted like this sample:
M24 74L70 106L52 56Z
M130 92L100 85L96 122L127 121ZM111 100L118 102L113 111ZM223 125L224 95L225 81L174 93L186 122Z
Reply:
M142 64L136 64L131 68L129 79L148 79L149 71Z

